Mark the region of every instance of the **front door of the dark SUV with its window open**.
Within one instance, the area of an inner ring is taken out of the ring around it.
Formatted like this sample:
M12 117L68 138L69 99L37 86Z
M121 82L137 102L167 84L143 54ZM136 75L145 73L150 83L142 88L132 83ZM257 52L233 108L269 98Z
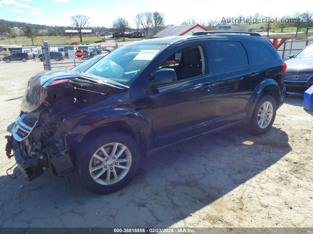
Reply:
M151 95L156 148L214 129L216 78L208 74L204 44L174 51L159 69L174 69L177 82Z

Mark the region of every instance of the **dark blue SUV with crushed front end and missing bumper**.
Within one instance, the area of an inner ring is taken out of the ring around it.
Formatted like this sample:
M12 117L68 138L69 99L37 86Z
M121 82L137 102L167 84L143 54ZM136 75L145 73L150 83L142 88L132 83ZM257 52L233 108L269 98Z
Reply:
M56 176L74 169L104 194L172 143L238 124L266 133L285 99L283 60L257 33L207 33L133 42L85 72L36 73L8 157L13 149L29 181L48 168Z

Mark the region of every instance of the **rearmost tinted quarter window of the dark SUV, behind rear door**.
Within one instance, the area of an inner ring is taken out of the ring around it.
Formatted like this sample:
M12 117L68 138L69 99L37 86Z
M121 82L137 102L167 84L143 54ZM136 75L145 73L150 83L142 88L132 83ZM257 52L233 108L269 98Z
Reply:
M269 50L266 45L262 43L245 42L245 46L251 53L249 54L250 64L271 62L276 60L274 54Z

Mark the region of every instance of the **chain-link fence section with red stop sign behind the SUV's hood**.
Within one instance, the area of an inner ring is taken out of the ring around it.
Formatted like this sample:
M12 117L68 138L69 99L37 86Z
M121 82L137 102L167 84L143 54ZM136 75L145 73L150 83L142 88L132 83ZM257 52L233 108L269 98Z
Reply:
M100 44L86 44L86 45L49 45L44 42L42 46L42 54L38 58L44 62L44 70L70 70L80 63L90 59L94 56L105 53L106 51L113 51L116 47L129 44L131 42L114 41L102 42ZM45 49L46 45L46 49ZM75 56L75 52L80 50L83 52L81 58Z

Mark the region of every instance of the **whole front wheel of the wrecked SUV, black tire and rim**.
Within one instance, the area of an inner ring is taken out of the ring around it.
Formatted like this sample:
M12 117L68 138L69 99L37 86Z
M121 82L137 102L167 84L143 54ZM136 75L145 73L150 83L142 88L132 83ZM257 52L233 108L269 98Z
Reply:
M125 187L140 165L137 142L123 132L112 132L82 142L75 156L75 172L81 184L98 194Z

